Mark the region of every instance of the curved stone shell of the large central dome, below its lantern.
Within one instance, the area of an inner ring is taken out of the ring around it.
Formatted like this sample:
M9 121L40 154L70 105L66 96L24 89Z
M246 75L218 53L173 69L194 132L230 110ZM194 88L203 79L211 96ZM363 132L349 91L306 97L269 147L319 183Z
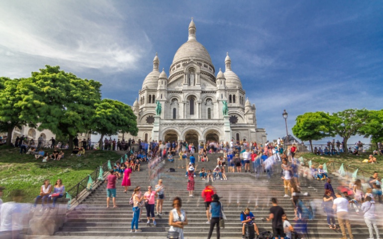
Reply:
M176 62L189 58L204 60L207 63L213 65L206 48L196 40L189 40L182 44L180 48L178 48L176 54L174 55L172 65Z

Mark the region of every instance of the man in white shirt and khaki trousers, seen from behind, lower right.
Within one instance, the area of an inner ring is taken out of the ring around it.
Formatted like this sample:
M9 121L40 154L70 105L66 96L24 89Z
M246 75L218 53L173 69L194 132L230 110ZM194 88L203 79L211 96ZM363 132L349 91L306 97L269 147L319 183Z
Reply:
M342 231L342 239L347 239L346 229L344 225L346 224L348 234L350 239L354 239L354 236L351 231L351 225L348 215L348 200L343 198L342 195L338 192L335 193L336 199L333 202L332 209L336 210L336 214L338 217L338 223L340 226L340 230Z

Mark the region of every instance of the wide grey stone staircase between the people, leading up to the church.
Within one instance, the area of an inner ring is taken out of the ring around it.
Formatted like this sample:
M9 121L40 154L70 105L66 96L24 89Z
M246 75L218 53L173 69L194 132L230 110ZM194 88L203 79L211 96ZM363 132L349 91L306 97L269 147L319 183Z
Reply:
M222 154L209 154L209 162L196 162L196 174L201 167L213 170L216 165L216 158ZM196 159L197 161L197 159ZM154 174L153 169L149 169L147 164L141 165L142 171L133 172L131 176L132 186L127 194L123 193L123 187L117 187L116 202L119 208L106 209L106 183L101 184L81 205L74 209L67 216L67 222L55 235L58 236L122 236L122 237L150 237L163 236L169 230L168 214L172 210L172 200L175 196L179 196L183 200L183 209L186 211L189 225L185 227L186 237L206 238L209 231L209 224L206 224L207 218L203 199L200 197L201 191L205 187L207 180L201 180L198 174L195 177L194 197L189 197L187 188L187 177L185 177L186 166L189 160L178 160L170 163L163 161L161 163L162 170L158 174ZM176 172L166 172L169 168L175 168ZM184 168L182 168L184 167ZM284 187L280 177L280 164L276 165L275 173L270 180L267 180L266 174L263 174L258 180L254 173L229 173L226 172L228 180L216 180L212 186L216 188L217 194L221 197L224 212L227 217L225 229L221 230L221 237L225 238L241 238L242 226L240 222L240 213L245 207L249 207L256 218L257 226L260 232L272 231L271 223L262 220L269 216L269 208L271 207L270 199L277 197L279 205L285 209L290 223L294 218L294 211L291 200L284 198ZM153 177L154 176L154 177ZM154 178L150 180L150 178ZM155 186L157 179L162 178L165 186L165 201L163 216L156 216L157 227L151 223L146 225L146 210L143 209L141 220L144 223L139 224L141 233L130 233L130 225L132 221L132 207L129 206L134 187L141 186L146 189L148 185ZM336 177L332 177L334 189L339 185ZM314 220L308 223L308 232L310 238L321 239L338 239L341 232L330 230L327 227L326 216L320 208L323 196L323 184L321 181L313 181L300 178L301 191L308 192L310 199L317 200L317 213ZM117 185L121 184L121 180ZM308 203L308 198L304 199ZM361 216L351 214L352 229L355 239L369 238L367 227ZM213 234L215 237L215 232Z

